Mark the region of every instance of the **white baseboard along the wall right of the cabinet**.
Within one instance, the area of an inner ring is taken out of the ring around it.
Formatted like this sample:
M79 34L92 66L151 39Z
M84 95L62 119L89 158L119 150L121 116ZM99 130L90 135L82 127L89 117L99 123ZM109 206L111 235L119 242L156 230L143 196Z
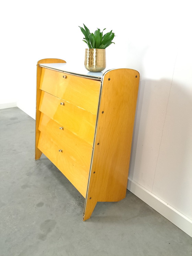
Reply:
M192 237L192 220L128 178L127 189Z

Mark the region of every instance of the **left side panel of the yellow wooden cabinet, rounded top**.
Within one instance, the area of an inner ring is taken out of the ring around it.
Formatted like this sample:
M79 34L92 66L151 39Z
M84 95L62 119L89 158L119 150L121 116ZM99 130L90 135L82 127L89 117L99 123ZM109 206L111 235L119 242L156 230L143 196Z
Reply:
M40 119L40 111L39 111L39 102L41 97L41 90L39 89L40 80L41 80L41 72L42 68L39 67L41 63L66 63L66 61L61 59L42 59L37 62L37 90L36 90L36 129L35 129L35 160L38 160L41 157L42 152L37 148L37 144L39 141L40 131L38 130L39 119Z

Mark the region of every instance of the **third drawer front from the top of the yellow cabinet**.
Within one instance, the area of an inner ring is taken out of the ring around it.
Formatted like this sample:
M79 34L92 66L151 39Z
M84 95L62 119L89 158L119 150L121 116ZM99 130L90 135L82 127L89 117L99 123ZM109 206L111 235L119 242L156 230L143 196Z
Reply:
M60 129L61 125L51 118L41 113L39 130L44 133L51 141L62 149L77 164L85 170L89 170L91 164L92 146L80 139L66 128ZM61 127L62 128L62 127Z

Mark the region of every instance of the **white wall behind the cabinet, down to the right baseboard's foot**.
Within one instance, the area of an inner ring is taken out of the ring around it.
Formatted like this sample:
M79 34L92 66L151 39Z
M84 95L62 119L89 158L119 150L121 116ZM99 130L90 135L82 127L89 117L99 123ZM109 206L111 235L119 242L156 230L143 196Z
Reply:
M61 58L84 65L78 26L113 29L107 65L140 72L140 90L129 189L154 209L154 198L171 209L159 212L192 235L192 53L189 1L11 1L0 17L0 104L17 102L35 118L36 62ZM134 187L134 188L133 188ZM140 191L141 193L139 193ZM151 199L150 199L151 198ZM174 214L188 229L174 222ZM189 230L190 229L190 230Z

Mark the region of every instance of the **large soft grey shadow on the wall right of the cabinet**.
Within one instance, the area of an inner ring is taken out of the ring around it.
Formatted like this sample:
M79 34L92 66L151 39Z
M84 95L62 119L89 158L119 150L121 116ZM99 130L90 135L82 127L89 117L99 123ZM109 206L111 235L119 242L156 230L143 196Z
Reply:
M189 196L191 113L186 86L171 80L140 81L129 178L170 205Z

